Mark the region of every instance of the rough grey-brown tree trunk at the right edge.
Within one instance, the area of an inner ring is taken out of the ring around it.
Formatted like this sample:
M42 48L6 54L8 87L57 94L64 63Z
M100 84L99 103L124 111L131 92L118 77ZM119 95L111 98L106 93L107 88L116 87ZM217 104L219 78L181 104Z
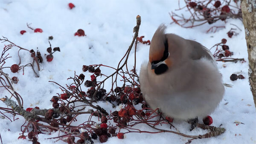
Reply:
M256 0L242 0L241 10L249 60L249 81L256 107Z

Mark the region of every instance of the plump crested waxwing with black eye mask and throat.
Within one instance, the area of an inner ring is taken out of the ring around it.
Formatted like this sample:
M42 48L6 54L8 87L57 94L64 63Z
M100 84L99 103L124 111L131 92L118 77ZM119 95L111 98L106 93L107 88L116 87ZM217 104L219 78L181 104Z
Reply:
M140 89L151 109L185 120L193 130L198 118L210 115L224 95L222 75L211 52L201 43L166 33L154 33L149 60L140 68Z

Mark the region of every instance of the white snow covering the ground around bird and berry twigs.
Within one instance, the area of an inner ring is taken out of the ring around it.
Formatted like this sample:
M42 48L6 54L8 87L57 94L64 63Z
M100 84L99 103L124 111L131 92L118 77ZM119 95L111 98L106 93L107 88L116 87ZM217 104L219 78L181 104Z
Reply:
M17 76L18 84L15 84L16 91L23 97L24 108L38 106L40 108L52 108L49 101L53 95L60 93L57 85L48 81L55 81L61 85L70 84L67 78L76 74L83 73L86 79L90 78L90 73L82 72L82 65L105 64L116 67L119 60L125 54L131 43L134 33L133 27L136 25L136 16L142 17L139 36L144 35L144 40L151 40L155 30L161 23L166 23L167 32L175 33L184 38L196 40L207 48L219 43L222 38L227 39L227 45L230 51L234 52L232 58L245 58L246 62L241 63L222 63L218 62L218 68L223 75L223 81L227 84L233 84L232 88L225 88L224 99L218 108L211 114L213 126L226 128L226 132L220 136L206 139L193 140L192 143L212 144L212 143L230 143L230 144L249 144L256 143L256 110L253 103L253 97L250 92L248 82L248 62L247 47L244 36L244 27L240 20L227 20L227 23L217 22L213 25L205 24L193 29L184 29L172 22L169 12L178 8L177 1L161 0L73 0L76 6L74 9L68 8L68 0L1 0L0 1L0 35L8 37L9 40L18 46L26 49L34 49L41 52L44 62L40 64L40 77L35 78L31 68L25 68L22 72L11 73L9 69L4 72L9 76ZM180 3L183 6L183 2ZM184 13L185 16L188 14ZM28 29L26 23L32 23L31 27L43 29L43 33L34 33ZM239 35L229 38L227 32L236 24ZM223 26L225 29L219 29L215 33L206 33L210 26ZM84 29L86 37L74 37L78 29ZM24 35L20 35L21 30L26 30ZM55 52L52 62L47 62L44 54L47 54L49 47L48 37L53 36L52 47L59 46L61 52ZM0 44L0 48L5 43ZM91 49L89 49L91 47ZM17 48L10 51L10 58L5 66L11 66L18 63ZM137 46L137 72L139 73L140 64L148 60L148 45L138 44ZM28 52L22 51L22 63L32 61ZM129 69L133 66L134 50L132 50L129 59ZM225 65L226 67L224 67ZM102 73L109 75L111 70L102 68ZM230 81L232 73L242 74L245 79ZM85 88L85 91L87 88ZM0 88L1 98L9 93ZM225 105L225 103L227 103ZM99 102L99 105L107 110L113 110L108 103ZM0 107L6 107L0 102ZM116 110L119 110L117 107ZM8 115L8 114L7 114ZM10 116L10 115L9 115ZM17 117L15 117L17 118ZM10 122L7 118L0 119L0 134L4 144L26 144L31 143L28 140L17 139L20 132L20 126L24 123L22 117L19 120ZM79 122L87 120L87 117L78 117ZM97 119L95 118L95 121ZM199 120L202 122L202 120ZM235 121L244 124L236 125ZM77 123L77 122L76 122ZM75 124L76 124L75 123ZM100 122L99 122L100 123ZM78 123L77 123L78 124ZM174 120L173 124L180 132L188 135L204 134L207 131L195 129L189 131L189 124L184 121ZM140 130L154 131L151 128L141 125ZM164 125L163 128L169 129ZM58 132L52 135L39 135L41 144L53 143L55 140L45 138L57 136ZM163 143L186 143L189 138L183 138L172 133L128 133L125 139L111 137L106 144L163 144ZM94 140L100 143L99 138ZM56 144L61 144L57 141Z

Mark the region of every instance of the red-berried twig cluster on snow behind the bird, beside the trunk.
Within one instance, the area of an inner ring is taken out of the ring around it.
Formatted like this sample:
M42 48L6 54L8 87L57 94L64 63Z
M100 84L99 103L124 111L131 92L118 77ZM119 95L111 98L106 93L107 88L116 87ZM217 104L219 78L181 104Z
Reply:
M201 26L205 23L215 23L218 20L225 21L230 18L239 18L242 20L240 3L236 2L236 6L230 4L231 0L184 0L185 6L181 9L187 9L190 17L186 18L183 14L179 15L175 12L169 13L173 22L184 28L192 28ZM215 28L220 28L215 26ZM210 29L209 29L210 30ZM207 32L209 32L209 30Z

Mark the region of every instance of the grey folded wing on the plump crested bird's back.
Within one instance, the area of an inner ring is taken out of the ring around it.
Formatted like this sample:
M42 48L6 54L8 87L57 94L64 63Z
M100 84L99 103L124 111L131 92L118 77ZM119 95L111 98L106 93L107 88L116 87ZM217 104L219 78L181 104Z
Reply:
M193 40L188 40L189 43L191 43L192 45L192 53L190 55L190 57L193 60L199 60L201 58L207 58L210 61L212 61L212 63L214 63L216 65L216 60L213 57L212 53L209 51L209 49L207 49L205 46L202 46L201 43L198 43L196 41Z

